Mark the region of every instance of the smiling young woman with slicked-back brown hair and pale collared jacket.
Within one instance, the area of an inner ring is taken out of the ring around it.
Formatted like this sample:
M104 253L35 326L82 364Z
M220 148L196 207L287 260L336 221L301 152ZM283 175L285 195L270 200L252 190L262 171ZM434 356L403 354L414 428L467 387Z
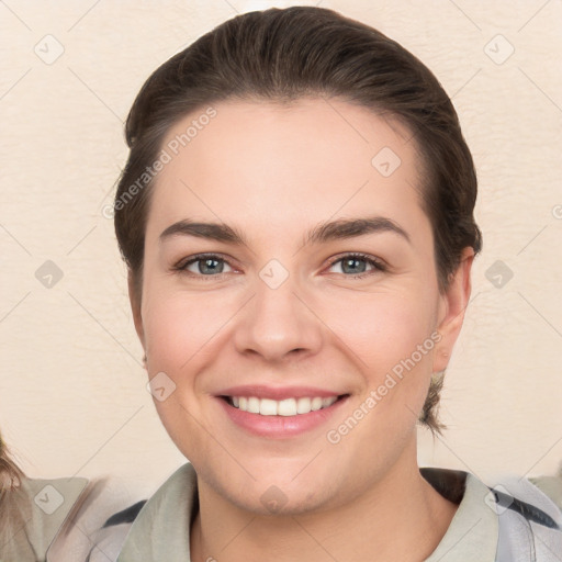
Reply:
M150 76L126 138L115 229L190 462L120 562L560 560L528 481L417 465L481 249L472 157L417 58L330 10L246 13Z

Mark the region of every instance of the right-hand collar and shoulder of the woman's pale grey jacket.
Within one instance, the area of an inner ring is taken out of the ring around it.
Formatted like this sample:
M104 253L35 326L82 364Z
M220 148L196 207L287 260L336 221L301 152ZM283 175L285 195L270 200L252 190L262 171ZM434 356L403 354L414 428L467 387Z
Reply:
M459 505L430 561L554 562L562 552L562 513L530 481L504 475L490 485L476 475L420 469L445 497ZM553 554L555 553L555 554ZM468 558L467 558L468 557ZM472 557L472 558L471 558Z

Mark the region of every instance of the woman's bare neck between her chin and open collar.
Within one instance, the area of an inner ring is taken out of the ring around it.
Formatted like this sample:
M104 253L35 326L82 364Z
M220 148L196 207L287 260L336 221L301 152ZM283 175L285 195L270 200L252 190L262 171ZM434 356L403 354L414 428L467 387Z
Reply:
M191 560L426 560L458 506L422 476L415 454L407 457L411 462L398 463L351 502L294 516L239 509L200 482L201 509L191 529Z

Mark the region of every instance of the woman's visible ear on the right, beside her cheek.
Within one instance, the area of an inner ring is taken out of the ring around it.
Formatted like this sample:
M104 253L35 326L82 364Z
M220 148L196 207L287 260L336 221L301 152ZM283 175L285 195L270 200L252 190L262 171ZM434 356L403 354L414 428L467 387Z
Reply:
M445 371L461 331L464 311L469 304L472 289L470 273L473 260L473 248L464 248L457 270L451 273L449 286L440 295L437 330L441 335L441 339L436 346L434 355L434 372Z

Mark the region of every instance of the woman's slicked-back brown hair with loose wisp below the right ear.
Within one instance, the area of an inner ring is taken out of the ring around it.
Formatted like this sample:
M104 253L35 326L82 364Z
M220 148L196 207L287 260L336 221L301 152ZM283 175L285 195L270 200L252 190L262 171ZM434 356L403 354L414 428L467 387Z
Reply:
M131 149L115 195L115 233L140 299L144 237L164 135L187 114L226 99L289 103L339 98L401 120L425 162L422 204L430 220L440 290L464 247L481 249L476 175L454 108L437 78L379 31L327 9L249 12L224 22L146 80L126 122ZM139 179L142 181L139 182ZM134 196L133 196L134 195ZM420 422L440 431L432 383Z

